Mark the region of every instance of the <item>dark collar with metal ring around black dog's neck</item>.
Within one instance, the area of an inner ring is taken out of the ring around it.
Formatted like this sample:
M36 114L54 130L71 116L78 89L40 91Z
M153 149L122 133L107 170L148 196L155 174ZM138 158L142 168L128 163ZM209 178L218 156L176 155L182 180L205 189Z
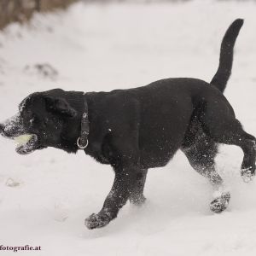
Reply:
M88 135L89 135L88 105L84 96L84 112L82 114L82 119L81 119L81 131L80 131L80 137L77 140L77 145L79 149L87 148L89 144Z

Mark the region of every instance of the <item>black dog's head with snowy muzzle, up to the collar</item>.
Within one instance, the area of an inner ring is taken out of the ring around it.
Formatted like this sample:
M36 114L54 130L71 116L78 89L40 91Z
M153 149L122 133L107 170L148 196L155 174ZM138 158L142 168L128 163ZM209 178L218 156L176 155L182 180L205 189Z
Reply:
M76 152L81 95L61 89L33 93L20 103L15 116L0 125L0 132L19 143L19 154L47 147Z

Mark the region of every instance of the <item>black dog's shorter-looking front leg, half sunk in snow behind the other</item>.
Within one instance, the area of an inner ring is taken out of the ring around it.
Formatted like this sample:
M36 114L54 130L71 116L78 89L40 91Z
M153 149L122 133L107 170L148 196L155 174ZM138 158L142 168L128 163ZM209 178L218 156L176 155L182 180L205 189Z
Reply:
M146 182L148 169L142 169L140 172L137 172L136 180L133 184L133 188L130 191L129 200L131 203L141 206L144 201L146 201L145 196L143 195L144 185Z

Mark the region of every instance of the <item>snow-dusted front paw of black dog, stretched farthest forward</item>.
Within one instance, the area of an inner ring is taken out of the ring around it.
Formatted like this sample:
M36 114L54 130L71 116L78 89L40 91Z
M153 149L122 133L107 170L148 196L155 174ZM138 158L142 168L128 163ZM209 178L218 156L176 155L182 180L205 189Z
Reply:
M106 226L110 220L108 212L92 213L85 219L84 224L89 230L94 230Z

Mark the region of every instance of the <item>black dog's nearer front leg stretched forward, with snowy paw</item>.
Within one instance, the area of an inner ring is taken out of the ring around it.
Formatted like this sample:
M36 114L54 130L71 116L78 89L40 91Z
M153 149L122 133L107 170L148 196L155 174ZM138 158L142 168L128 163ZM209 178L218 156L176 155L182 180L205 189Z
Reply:
M137 167L119 166L114 171L113 187L104 202L102 210L97 214L91 214L89 218L85 219L85 225L90 230L102 228L113 218L116 218L119 209L125 205L130 196L131 187L136 179Z

